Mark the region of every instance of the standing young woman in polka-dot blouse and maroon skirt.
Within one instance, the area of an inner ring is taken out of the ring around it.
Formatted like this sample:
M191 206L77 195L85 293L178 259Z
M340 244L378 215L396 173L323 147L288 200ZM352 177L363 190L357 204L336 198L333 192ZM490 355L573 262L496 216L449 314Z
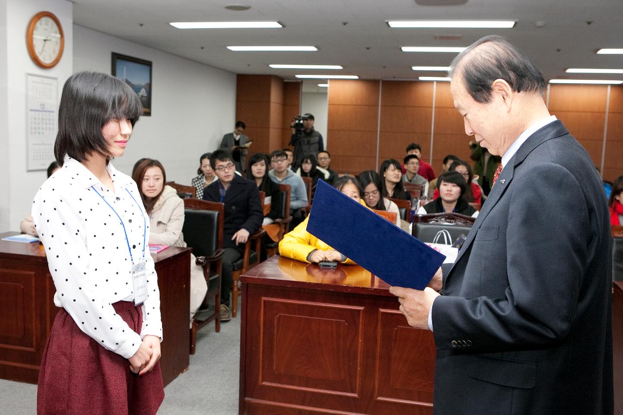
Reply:
M158 278L136 183L110 163L143 113L107 74L63 87L54 155L62 168L32 217L60 307L42 356L37 413L155 414L164 398Z

